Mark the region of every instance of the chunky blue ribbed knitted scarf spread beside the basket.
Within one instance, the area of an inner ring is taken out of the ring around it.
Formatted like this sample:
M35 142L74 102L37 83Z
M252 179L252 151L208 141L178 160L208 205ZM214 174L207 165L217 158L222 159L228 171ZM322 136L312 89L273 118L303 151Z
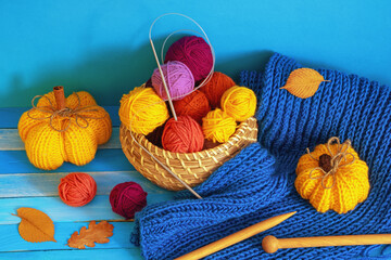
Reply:
M203 199L178 193L177 199L144 208L136 216L135 243L146 259L173 259L267 218L297 210L281 224L205 259L351 259L378 246L263 251L266 235L304 237L389 233L391 218L391 93L378 82L318 69L330 80L310 99L280 90L301 67L274 54L265 73L243 72L241 84L258 99L258 143L241 151L195 187ZM330 136L352 146L369 167L368 198L354 210L317 212L297 193L295 166L305 148Z

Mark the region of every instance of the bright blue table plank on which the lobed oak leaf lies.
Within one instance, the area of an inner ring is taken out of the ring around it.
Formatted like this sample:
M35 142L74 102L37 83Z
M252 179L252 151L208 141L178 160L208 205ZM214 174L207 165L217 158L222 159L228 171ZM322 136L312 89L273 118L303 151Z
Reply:
M0 225L0 251L20 251L20 250L74 250L66 246L67 239L75 231L79 231L81 226L88 226L89 222L66 222L58 223L54 222L54 238L55 242L46 243L28 243L24 240L17 231L17 224ZM108 244L96 244L97 249L99 248L136 248L130 243L130 233L135 226L134 222L111 222L114 225L113 236L110 237ZM88 247L86 247L87 249Z

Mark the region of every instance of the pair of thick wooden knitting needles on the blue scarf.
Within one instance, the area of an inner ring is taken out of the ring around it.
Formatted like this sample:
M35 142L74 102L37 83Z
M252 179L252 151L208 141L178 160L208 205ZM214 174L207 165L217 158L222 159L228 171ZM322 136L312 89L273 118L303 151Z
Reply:
M254 225L238 231L219 240L201 247L192 252L176 258L175 260L195 260L204 258L211 253L219 251L236 243L244 240L253 235L278 225L286 219L292 217L297 211L289 212L270 219L261 221ZM391 234L377 235L343 235L343 236L315 236L315 237L294 237L294 238L277 238L268 235L262 240L263 249L273 253L282 248L299 248L299 247L327 247L327 246L357 246L357 245L379 245L391 244Z

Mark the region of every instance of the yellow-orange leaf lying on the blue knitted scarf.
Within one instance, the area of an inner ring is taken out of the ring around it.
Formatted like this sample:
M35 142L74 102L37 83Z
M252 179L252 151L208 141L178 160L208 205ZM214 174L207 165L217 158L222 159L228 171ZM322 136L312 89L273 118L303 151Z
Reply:
M325 80L315 69L298 68L289 75L286 86L280 89L286 89L300 99L307 99L316 93L323 81L330 80Z

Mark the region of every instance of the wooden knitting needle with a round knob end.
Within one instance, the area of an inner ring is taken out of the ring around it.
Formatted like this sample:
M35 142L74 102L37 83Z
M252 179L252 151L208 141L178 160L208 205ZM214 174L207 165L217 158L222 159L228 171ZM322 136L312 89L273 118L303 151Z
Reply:
M391 244L391 234L314 236L294 238L277 238L275 236L268 235L262 240L262 247L268 253L276 252L280 248L360 246L381 244Z

